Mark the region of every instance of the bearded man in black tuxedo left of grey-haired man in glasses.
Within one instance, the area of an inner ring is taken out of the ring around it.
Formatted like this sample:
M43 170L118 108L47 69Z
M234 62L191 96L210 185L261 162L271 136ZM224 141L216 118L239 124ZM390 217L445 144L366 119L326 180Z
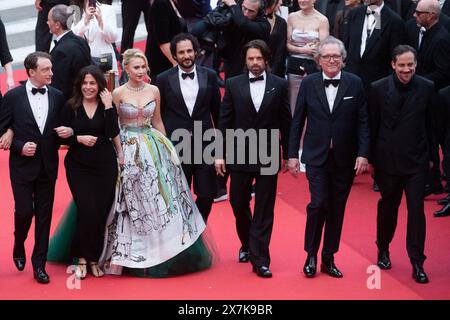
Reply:
M226 81L219 129L224 137L227 129L234 130L235 134L234 138L226 137L227 143L234 142L234 149L227 146L225 154L227 168L231 171L230 203L241 242L239 262L250 259L253 271L259 277L270 278L269 243L280 167L279 143L281 141L283 147L283 159L287 159L291 121L288 84L285 79L267 71L270 53L264 41L250 41L243 53L248 73ZM285 162L283 160L283 167ZM220 156L217 156L215 166L219 175L227 170L225 160ZM256 195L252 217L253 181Z

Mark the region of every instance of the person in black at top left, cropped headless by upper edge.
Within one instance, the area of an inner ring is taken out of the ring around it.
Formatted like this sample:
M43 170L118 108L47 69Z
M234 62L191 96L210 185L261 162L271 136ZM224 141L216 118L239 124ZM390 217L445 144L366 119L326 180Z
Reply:
M48 28L47 17L50 9L57 4L69 5L69 0L35 0L34 6L38 11L38 18L36 21L35 44L36 51L50 51L50 44L52 42L52 34Z

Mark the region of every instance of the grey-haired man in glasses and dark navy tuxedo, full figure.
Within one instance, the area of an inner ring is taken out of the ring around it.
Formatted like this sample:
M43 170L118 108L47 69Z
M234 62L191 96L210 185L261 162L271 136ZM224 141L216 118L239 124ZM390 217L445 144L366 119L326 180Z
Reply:
M317 252L325 234L321 271L341 278L334 264L344 220L345 205L353 179L368 167L369 123L362 81L341 71L346 52L344 44L332 37L319 48L322 72L303 79L298 93L289 135L289 170L296 176L300 162L298 148L303 126L302 162L306 164L311 202L306 207L303 272L313 277L317 270Z

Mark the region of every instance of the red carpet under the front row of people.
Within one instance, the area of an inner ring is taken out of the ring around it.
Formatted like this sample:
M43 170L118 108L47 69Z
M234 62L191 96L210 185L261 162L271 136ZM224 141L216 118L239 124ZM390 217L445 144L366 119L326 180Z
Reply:
M143 47L143 43L138 46ZM16 71L15 80L26 79L25 72ZM0 75L4 84L4 74ZM52 232L69 203L71 196L63 166L65 151L60 152L60 172ZM280 175L275 225L271 241L272 279L261 279L248 264L237 263L239 242L234 217L228 202L215 204L209 227L219 255L214 266L206 271L169 279L139 279L88 276L79 289L73 288L66 266L49 264L49 285L37 284L32 278L28 258L25 271L18 272L12 262L13 206L8 152L0 151L0 299L450 299L450 218L433 218L438 208L432 196L425 203L427 242L425 270L430 277L427 285L411 279L411 267L406 255L406 211L404 203L399 214L397 233L391 246L393 269L381 272L380 289L368 289L367 268L376 262L376 203L378 193L371 191L369 175L358 177L347 205L340 251L336 264L344 278L334 279L318 273L307 279L301 273L305 253L303 237L305 207L309 201L304 175L298 179ZM33 229L33 227L32 227ZM31 256L33 230L26 243Z

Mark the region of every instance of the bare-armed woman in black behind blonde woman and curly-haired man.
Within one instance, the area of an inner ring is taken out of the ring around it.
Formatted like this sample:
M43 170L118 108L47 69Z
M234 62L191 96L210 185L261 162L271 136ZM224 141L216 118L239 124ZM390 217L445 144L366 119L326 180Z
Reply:
M187 25L178 11L177 0L154 0L149 20L151 32L147 37L145 56L154 80L158 74L177 64L170 53L170 41L178 33L186 32Z

